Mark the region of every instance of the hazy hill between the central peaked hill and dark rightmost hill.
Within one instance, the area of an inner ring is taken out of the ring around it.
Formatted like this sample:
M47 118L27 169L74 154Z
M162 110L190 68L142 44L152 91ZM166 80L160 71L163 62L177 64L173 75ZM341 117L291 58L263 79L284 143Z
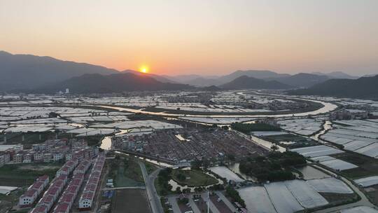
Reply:
M281 83L292 85L297 88L309 88L316 83L323 83L327 81L328 76L318 76L315 74L300 73L293 76L286 76L283 78L269 78L269 80L279 81Z

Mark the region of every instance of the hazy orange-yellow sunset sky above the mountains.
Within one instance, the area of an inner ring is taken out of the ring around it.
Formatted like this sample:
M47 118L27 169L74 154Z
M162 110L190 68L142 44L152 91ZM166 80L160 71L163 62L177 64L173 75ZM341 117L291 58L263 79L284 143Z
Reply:
M378 1L0 0L0 50L158 74L377 74Z

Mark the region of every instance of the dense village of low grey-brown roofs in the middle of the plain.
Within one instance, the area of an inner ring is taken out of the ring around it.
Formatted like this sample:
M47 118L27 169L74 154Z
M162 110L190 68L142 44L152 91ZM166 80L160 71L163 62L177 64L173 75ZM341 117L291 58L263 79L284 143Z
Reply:
M236 132L195 128L158 130L146 135L113 137L112 146L114 149L140 152L175 163L203 159L222 161L225 156L242 159L247 156L259 156L266 151Z

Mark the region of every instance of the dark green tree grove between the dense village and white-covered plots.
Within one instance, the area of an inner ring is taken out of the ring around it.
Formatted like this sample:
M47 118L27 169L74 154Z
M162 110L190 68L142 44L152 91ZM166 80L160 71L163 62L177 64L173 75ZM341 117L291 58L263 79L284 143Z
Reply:
M293 167L305 164L306 159L298 153L272 152L266 157L258 156L241 161L239 170L260 182L285 181L295 179Z

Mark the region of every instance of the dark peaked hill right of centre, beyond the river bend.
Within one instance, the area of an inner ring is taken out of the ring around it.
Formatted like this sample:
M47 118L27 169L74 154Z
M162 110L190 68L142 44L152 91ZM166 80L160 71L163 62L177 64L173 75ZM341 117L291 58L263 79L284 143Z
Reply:
M228 90L237 89L288 89L293 88L290 85L280 83L278 81L265 81L258 78L252 78L248 76L240 76L235 80L225 83L220 86Z

